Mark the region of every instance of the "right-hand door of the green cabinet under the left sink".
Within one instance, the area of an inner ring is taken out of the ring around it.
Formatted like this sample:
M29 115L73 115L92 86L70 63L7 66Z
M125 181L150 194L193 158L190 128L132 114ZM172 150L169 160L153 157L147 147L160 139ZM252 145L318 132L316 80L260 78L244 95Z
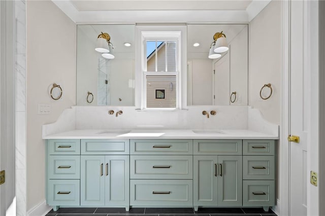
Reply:
M105 156L105 205L129 205L129 156Z

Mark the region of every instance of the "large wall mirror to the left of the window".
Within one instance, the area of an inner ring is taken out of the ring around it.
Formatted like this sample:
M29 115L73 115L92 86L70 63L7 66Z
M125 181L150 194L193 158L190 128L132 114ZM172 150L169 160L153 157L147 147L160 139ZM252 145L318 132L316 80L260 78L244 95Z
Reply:
M108 58L95 51L102 32L110 36ZM134 83L135 25L78 25L77 105L133 106Z

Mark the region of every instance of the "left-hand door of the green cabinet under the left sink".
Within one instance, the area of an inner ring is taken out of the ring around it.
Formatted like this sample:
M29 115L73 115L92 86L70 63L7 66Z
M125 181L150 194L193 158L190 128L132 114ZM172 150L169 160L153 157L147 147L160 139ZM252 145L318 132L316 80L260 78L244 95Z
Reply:
M80 205L103 206L105 203L105 156L81 156Z

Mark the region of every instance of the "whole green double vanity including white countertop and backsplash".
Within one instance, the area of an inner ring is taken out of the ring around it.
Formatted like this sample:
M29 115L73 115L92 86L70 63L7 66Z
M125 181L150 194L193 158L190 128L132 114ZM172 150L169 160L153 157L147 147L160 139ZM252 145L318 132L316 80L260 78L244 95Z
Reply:
M279 128L258 110L205 106L217 113L207 118L201 106L112 109L123 114L74 106L43 126L46 201L54 210L276 205Z

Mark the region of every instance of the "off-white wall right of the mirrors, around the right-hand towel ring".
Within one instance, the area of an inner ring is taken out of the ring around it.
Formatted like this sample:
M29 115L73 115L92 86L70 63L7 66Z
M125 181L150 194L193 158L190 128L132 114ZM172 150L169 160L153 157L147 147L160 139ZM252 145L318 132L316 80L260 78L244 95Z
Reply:
M251 22L249 29L249 105L261 110L264 118L280 124L281 119L281 1L272 1ZM264 84L273 94L259 97Z

